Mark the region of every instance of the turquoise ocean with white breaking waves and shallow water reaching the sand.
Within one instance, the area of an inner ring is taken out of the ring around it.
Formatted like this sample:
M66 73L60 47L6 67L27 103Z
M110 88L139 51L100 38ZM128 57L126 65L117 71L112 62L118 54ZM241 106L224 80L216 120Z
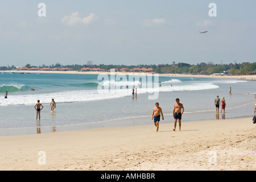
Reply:
M0 135L150 125L155 102L162 107L164 122L172 123L176 98L184 105L182 122L250 117L254 85L255 81L233 78L5 72L0 74ZM137 97L131 88L137 88ZM225 114L216 114L217 95L225 97ZM34 108L38 100L44 106L40 122Z

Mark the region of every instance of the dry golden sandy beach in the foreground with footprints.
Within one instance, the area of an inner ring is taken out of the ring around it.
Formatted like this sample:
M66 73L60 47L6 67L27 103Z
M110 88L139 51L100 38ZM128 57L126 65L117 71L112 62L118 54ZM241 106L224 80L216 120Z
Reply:
M0 137L0 169L255 170L256 128L251 119L183 122L181 131L172 131L173 122L161 120L158 133L152 122Z

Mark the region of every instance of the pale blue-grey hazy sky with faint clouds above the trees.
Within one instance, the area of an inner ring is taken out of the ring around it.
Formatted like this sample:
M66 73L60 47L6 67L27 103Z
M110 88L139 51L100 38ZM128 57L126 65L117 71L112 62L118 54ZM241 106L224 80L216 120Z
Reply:
M1 0L0 66L254 63L255 8L251 0Z

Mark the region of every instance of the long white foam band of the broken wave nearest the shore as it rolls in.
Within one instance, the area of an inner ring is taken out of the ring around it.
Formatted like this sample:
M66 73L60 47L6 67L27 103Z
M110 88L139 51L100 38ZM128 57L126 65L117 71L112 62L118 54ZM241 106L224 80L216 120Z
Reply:
M122 83L123 84L123 83ZM52 98L56 102L85 102L85 101L96 101L96 100L107 100L113 98L121 98L126 96L131 96L131 89L120 89L120 85L114 89L97 89L97 90L71 90L62 92L52 92L52 93L42 93L42 94L20 94L13 95L7 99L0 99L0 106L7 105L34 105L38 100L42 104L48 104L51 102ZM108 87L107 87L108 88ZM193 91L193 90L206 90L206 89L216 89L219 88L217 85L210 83L194 83L179 86L158 86L156 85L152 88L138 88L138 94L141 93L154 93L154 92L178 92L178 91Z

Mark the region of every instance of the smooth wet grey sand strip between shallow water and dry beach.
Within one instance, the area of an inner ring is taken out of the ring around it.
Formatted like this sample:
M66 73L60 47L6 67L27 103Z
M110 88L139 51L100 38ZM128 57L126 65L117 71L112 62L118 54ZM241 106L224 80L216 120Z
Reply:
M226 109L225 113L216 113L213 110L206 110L200 112L184 113L182 116L182 122L198 122L205 120L226 121L227 119L243 119L251 116L251 105L254 102L250 102L244 106ZM243 110L243 115L241 115ZM162 123L174 123L172 113L164 114L164 121ZM162 119L161 119L162 120ZM20 136L20 135L33 135L33 134L46 134L46 133L59 133L65 131L77 131L77 130L91 130L91 129L111 129L113 127L130 127L130 126L147 126L148 123L152 123L151 115L144 115L141 117L129 117L129 118L117 118L109 119L106 121L94 121L85 123L74 123L68 125L51 125L40 126L40 122L36 122L37 126L31 127L12 127L0 129L0 137L5 136Z

